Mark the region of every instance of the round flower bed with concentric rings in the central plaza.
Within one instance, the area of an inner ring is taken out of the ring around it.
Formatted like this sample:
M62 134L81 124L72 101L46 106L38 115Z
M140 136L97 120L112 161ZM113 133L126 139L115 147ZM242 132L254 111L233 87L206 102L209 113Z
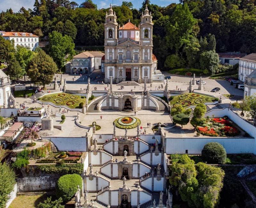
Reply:
M133 129L140 125L140 119L133 117L133 116L123 116L117 118L114 121L114 124L119 129Z

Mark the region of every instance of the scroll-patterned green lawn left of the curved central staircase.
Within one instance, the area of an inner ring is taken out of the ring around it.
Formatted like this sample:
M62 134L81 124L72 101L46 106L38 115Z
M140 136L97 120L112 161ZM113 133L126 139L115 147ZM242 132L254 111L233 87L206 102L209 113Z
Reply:
M85 104L85 98L80 95L68 93L46 94L39 100L42 102L52 102L58 106L67 106L68 108L79 108L80 103Z

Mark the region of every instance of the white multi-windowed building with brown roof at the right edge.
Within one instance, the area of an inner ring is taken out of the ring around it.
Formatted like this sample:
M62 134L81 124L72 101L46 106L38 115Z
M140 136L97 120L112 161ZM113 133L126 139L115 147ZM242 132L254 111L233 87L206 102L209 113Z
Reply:
M238 78L244 82L245 77L249 77L252 71L256 70L256 53L249 54L240 58Z

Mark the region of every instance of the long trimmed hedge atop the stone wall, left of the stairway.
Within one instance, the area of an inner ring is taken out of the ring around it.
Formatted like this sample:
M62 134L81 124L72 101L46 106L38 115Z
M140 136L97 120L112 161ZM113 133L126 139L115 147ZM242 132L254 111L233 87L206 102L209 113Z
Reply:
M58 173L65 174L81 174L84 171L84 164L77 163L71 165L38 165L37 166L44 173Z

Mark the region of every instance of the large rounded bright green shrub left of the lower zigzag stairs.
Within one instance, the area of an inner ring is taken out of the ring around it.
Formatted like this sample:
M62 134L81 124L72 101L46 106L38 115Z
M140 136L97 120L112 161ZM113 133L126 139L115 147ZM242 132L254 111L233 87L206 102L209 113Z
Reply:
M82 177L78 174L67 174L59 178L56 183L56 196L64 201L70 200L77 191L77 186L82 188Z

